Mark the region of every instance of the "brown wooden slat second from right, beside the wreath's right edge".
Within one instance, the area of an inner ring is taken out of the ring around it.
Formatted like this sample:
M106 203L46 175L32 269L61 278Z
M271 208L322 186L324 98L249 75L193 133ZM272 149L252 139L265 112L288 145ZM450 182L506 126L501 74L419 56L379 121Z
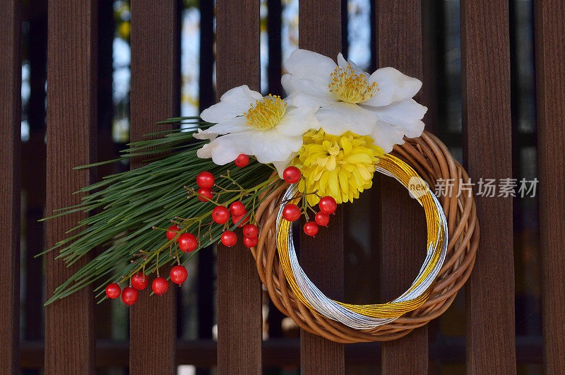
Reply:
M509 178L509 5L461 1L463 157L477 183ZM475 194L477 193L475 186ZM481 227L466 289L467 371L516 374L512 199L475 196Z

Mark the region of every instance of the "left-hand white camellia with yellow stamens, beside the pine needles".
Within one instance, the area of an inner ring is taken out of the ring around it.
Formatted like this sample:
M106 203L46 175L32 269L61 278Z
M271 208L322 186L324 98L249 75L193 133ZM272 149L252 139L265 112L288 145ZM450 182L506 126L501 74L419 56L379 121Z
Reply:
M282 174L302 147L302 134L318 126L315 113L313 107L287 107L280 97L263 97L247 85L232 88L202 112L204 121L216 124L194 134L211 141L196 155L211 157L217 165L232 162L240 154L254 155L258 162L273 163Z

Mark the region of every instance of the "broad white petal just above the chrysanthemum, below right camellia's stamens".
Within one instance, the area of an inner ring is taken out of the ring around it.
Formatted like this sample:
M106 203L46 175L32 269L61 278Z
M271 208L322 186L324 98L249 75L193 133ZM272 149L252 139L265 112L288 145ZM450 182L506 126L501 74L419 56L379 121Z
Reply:
M359 136L367 136L373 131L377 121L373 112L346 102L334 102L327 107L321 107L316 112L316 118L320 127L326 133L334 136L340 136L346 131L351 131Z

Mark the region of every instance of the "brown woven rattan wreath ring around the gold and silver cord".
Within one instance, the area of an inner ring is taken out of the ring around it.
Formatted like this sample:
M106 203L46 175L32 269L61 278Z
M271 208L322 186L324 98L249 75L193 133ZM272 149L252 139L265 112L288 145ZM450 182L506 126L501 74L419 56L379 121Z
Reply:
M439 197L448 222L449 242L432 294L418 309L396 321L368 330L347 327L309 310L287 284L278 260L276 220L281 198L288 187L280 186L266 192L267 198L256 211L260 235L257 246L251 252L273 304L300 328L338 343L395 340L443 314L469 278L479 244L479 224L472 194L465 190L458 194L459 184L470 182L467 172L449 153L446 145L427 131L419 138L406 139L403 145L396 145L392 154L414 168L432 191L437 180L453 181L451 194L448 191L446 196Z

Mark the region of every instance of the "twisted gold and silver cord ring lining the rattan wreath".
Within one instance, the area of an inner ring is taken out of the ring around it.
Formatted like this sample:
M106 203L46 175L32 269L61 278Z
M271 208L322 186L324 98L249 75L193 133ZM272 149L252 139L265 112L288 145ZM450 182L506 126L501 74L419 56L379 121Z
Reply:
M387 174L409 189L412 178L420 178L414 169L392 155L383 155L376 167L378 172ZM424 207L427 219L428 246L427 256L420 273L410 288L386 304L345 304L334 301L324 295L299 266L294 242L292 241L292 225L283 219L284 204L280 205L277 217L277 243L280 264L283 267L287 282L298 299L311 311L339 321L351 328L369 329L394 321L408 311L421 306L432 291L432 284L441 269L447 250L447 220L436 196L424 184L425 193L417 200ZM297 203L296 184L291 185L283 201ZM295 198L292 200L292 198Z

